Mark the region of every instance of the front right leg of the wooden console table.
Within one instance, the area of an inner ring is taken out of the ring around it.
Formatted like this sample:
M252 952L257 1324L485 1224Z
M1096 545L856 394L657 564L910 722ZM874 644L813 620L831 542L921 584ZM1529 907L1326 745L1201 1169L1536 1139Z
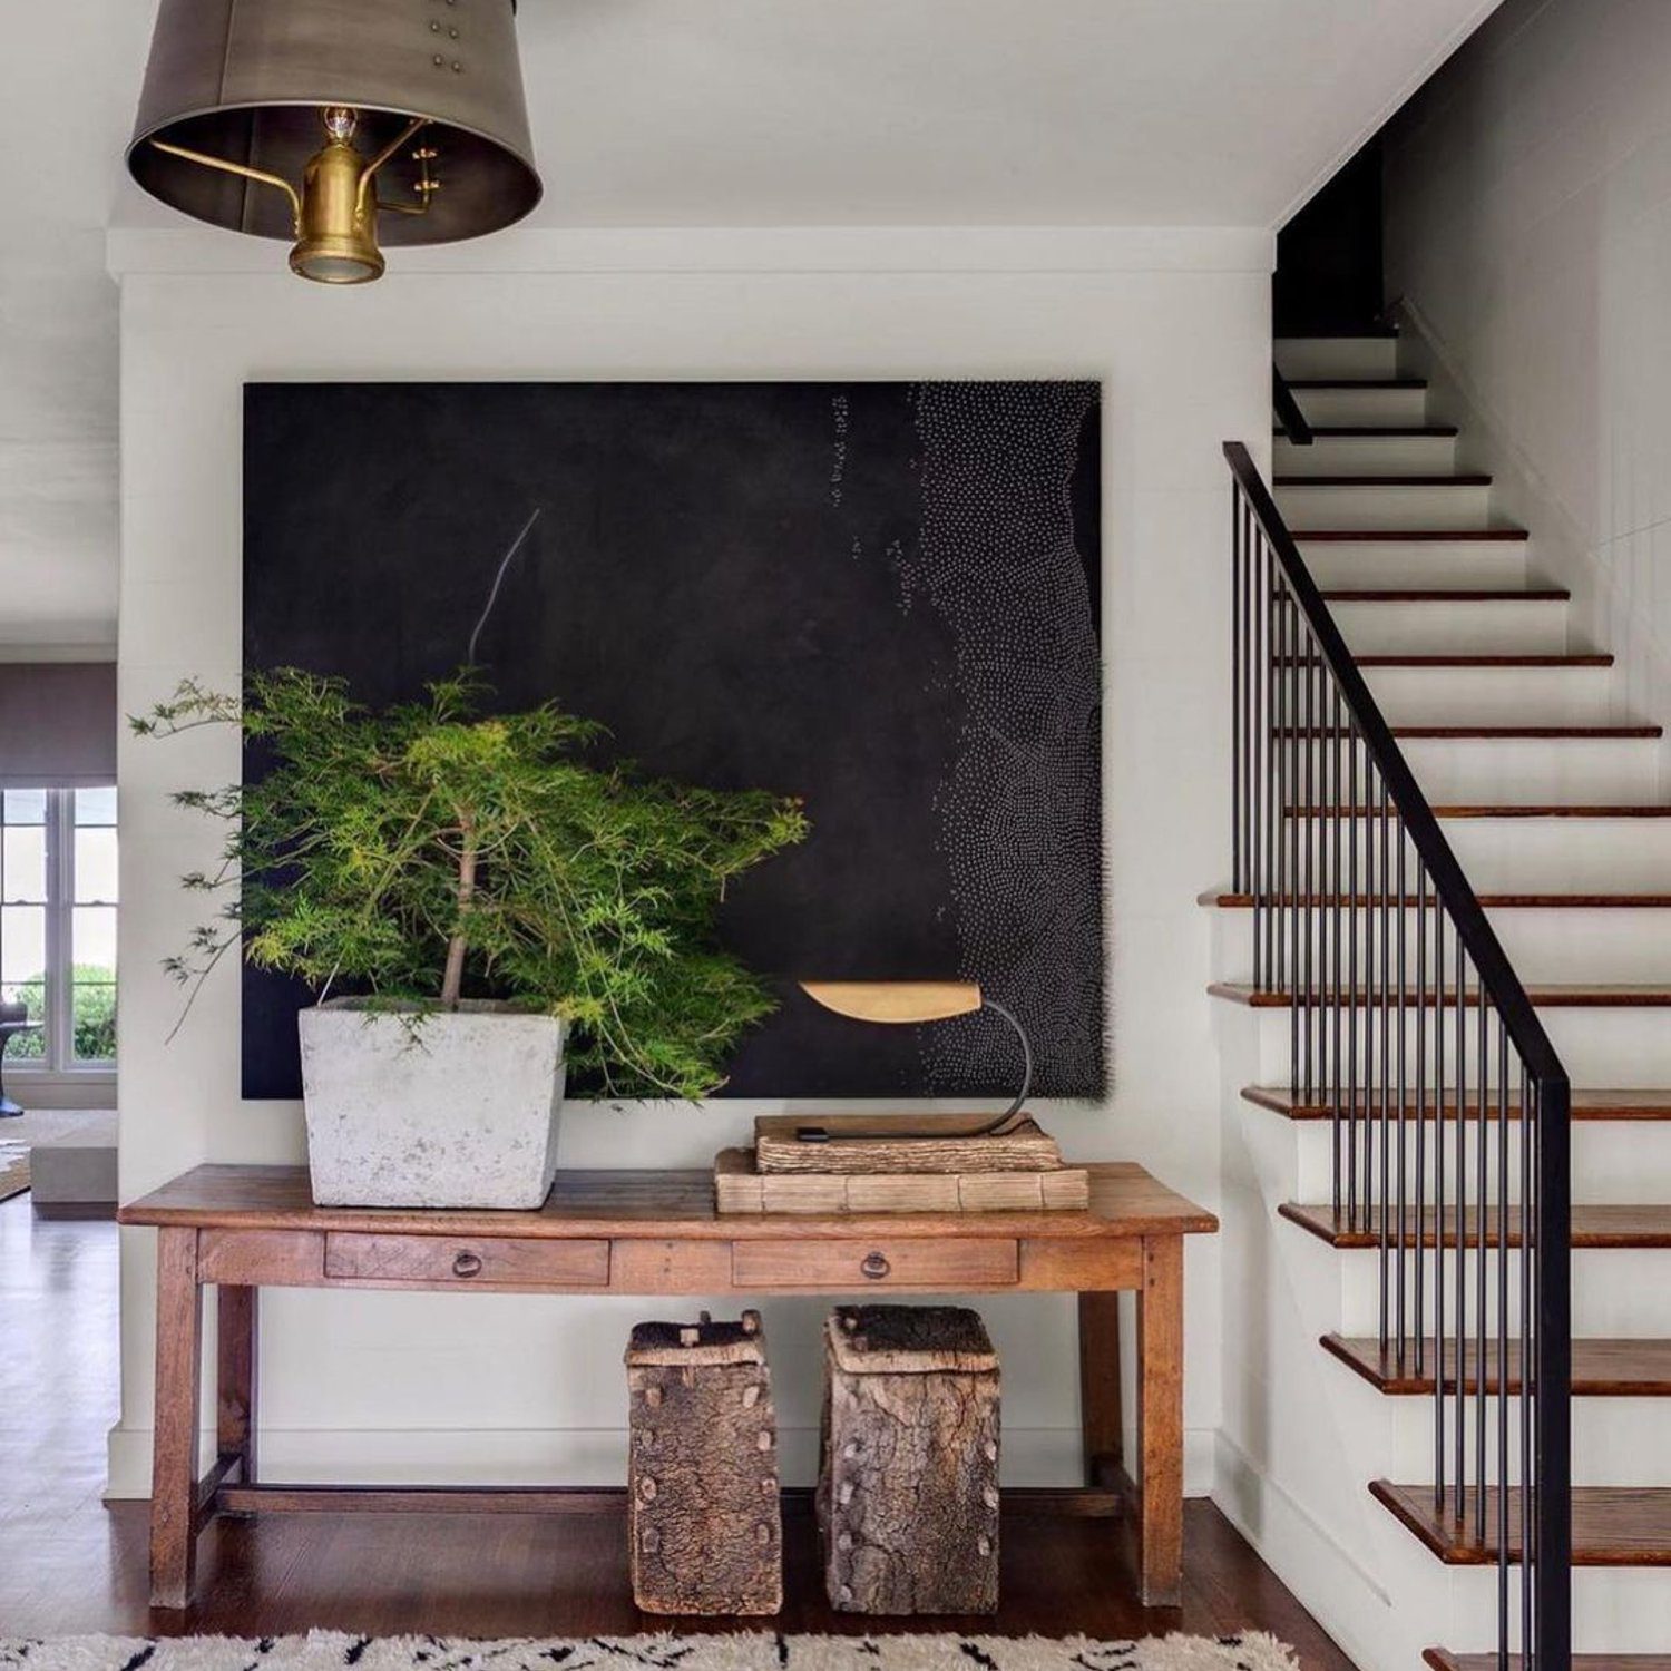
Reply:
M1138 1292L1143 1604L1183 1596L1183 1237L1145 1237Z

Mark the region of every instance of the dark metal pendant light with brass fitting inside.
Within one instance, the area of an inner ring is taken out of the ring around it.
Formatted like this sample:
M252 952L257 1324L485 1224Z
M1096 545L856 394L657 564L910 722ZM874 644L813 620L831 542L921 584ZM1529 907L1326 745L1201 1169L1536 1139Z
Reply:
M162 0L127 150L154 197L324 284L540 201L515 0Z

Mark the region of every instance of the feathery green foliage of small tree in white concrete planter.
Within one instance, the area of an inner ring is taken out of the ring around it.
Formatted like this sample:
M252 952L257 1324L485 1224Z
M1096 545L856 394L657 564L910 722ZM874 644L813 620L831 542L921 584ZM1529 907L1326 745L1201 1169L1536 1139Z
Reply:
M485 695L461 672L373 712L341 680L277 668L242 703L185 682L132 720L236 724L274 762L259 784L174 797L226 822L221 864L182 881L227 902L169 971L196 988L242 942L321 994L505 998L566 1016L571 1063L608 1095L707 1095L774 1008L715 916L730 877L805 837L800 804L645 779L597 759L593 722L485 715Z

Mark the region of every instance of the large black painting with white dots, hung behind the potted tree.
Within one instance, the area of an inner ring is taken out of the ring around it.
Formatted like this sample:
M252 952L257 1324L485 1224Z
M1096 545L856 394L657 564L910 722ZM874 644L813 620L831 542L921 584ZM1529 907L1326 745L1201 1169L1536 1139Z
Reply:
M1039 1093L1103 1089L1096 384L289 383L244 416L246 665L414 695L538 506L476 655L500 703L805 799L724 911L784 989L725 1095L1013 1088L1001 1023L862 1026L799 976L979 979ZM299 1095L301 1001L246 973L246 1096Z

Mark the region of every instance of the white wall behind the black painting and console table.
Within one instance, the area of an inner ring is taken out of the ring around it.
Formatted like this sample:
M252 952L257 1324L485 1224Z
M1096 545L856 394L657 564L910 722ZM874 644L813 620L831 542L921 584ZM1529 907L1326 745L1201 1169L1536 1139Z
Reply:
M1208 926L1227 842L1228 490L1220 441L1268 433L1270 237L1262 232L541 234L481 246L515 272L403 256L323 292L282 251L115 234L122 274L122 702L182 673L239 677L241 384L257 378L1095 376L1105 383L1106 824L1116 1089L1049 1108L1079 1156L1135 1156L1210 1205L1218 1069ZM206 272L221 264L226 271ZM428 271L426 271L428 267ZM174 269L174 271L169 271ZM239 271L242 269L242 271ZM541 271L546 269L546 271ZM124 740L122 1195L202 1160L299 1161L289 1105L241 1103L237 983L224 969L172 1044L157 962L194 921L174 877L212 834L167 804L229 780L229 737ZM573 1108L568 1165L705 1165L759 1105ZM112 1489L147 1491L152 1243L124 1242L124 1414ZM682 1310L693 1310L690 1302ZM789 1475L815 1425L820 1302L764 1310ZM1071 1302L981 1308L1006 1364L1006 1470L1078 1467ZM282 1475L608 1481L623 1467L622 1367L637 1300L269 1297L264 1460ZM1220 1409L1213 1242L1188 1255L1191 1486Z

